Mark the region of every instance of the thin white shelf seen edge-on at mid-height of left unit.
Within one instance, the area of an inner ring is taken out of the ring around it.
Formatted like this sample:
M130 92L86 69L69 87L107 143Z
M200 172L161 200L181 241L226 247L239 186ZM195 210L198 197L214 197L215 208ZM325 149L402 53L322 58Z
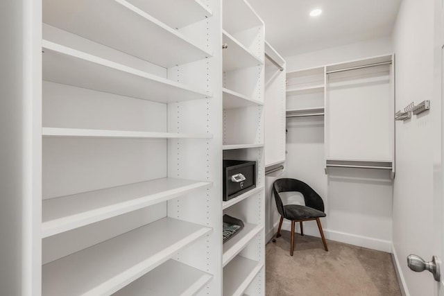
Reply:
M119 139L211 139L212 134L176 132L138 132L130 130L89 130L81 128L42 128L43 137L119 138Z

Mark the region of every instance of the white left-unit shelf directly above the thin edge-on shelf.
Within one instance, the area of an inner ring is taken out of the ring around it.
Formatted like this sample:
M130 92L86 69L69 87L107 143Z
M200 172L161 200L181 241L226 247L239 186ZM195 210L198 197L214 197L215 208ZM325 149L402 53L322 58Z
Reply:
M112 2L112 1L109 1ZM43 79L100 92L170 103L212 94L46 40Z

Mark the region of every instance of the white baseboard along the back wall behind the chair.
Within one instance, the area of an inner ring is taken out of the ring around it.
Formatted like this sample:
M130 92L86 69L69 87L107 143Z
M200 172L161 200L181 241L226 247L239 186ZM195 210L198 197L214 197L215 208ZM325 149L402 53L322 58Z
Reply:
M299 224L299 223L297 223ZM279 222L275 223L274 229L271 229L267 234L266 238L269 241L273 235L278 231ZM282 223L282 229L291 231L291 223L289 220L284 220ZM296 232L300 233L299 225L296 227ZM382 252L391 253L392 243L391 241L385 241L379 238L370 238L368 236L359 236L357 234L348 234L345 232L336 232L334 230L323 229L325 238L331 241L339 241L341 243L348 243L350 245L357 245L359 247L367 247L368 249L378 250ZM309 236L321 237L319 234L318 227L312 227L304 223L304 234Z

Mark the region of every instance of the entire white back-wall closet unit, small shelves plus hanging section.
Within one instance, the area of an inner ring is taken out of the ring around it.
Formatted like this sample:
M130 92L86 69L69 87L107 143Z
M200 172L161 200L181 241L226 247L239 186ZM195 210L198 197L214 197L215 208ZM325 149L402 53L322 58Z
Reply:
M393 55L382 55L287 73L286 116L322 116L326 168L394 177L393 69Z

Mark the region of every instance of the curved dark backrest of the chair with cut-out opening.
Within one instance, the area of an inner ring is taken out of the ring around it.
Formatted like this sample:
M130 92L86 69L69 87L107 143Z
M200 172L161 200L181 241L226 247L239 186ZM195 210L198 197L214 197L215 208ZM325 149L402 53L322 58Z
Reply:
M280 192L296 191L300 192L304 196L305 205L317 209L318 211L324 211L324 202L318 193L314 191L306 183L290 178L282 178L275 180L273 183L273 193L275 195L276 207L278 208L279 214L284 216L284 204L282 203L282 198L280 197Z

